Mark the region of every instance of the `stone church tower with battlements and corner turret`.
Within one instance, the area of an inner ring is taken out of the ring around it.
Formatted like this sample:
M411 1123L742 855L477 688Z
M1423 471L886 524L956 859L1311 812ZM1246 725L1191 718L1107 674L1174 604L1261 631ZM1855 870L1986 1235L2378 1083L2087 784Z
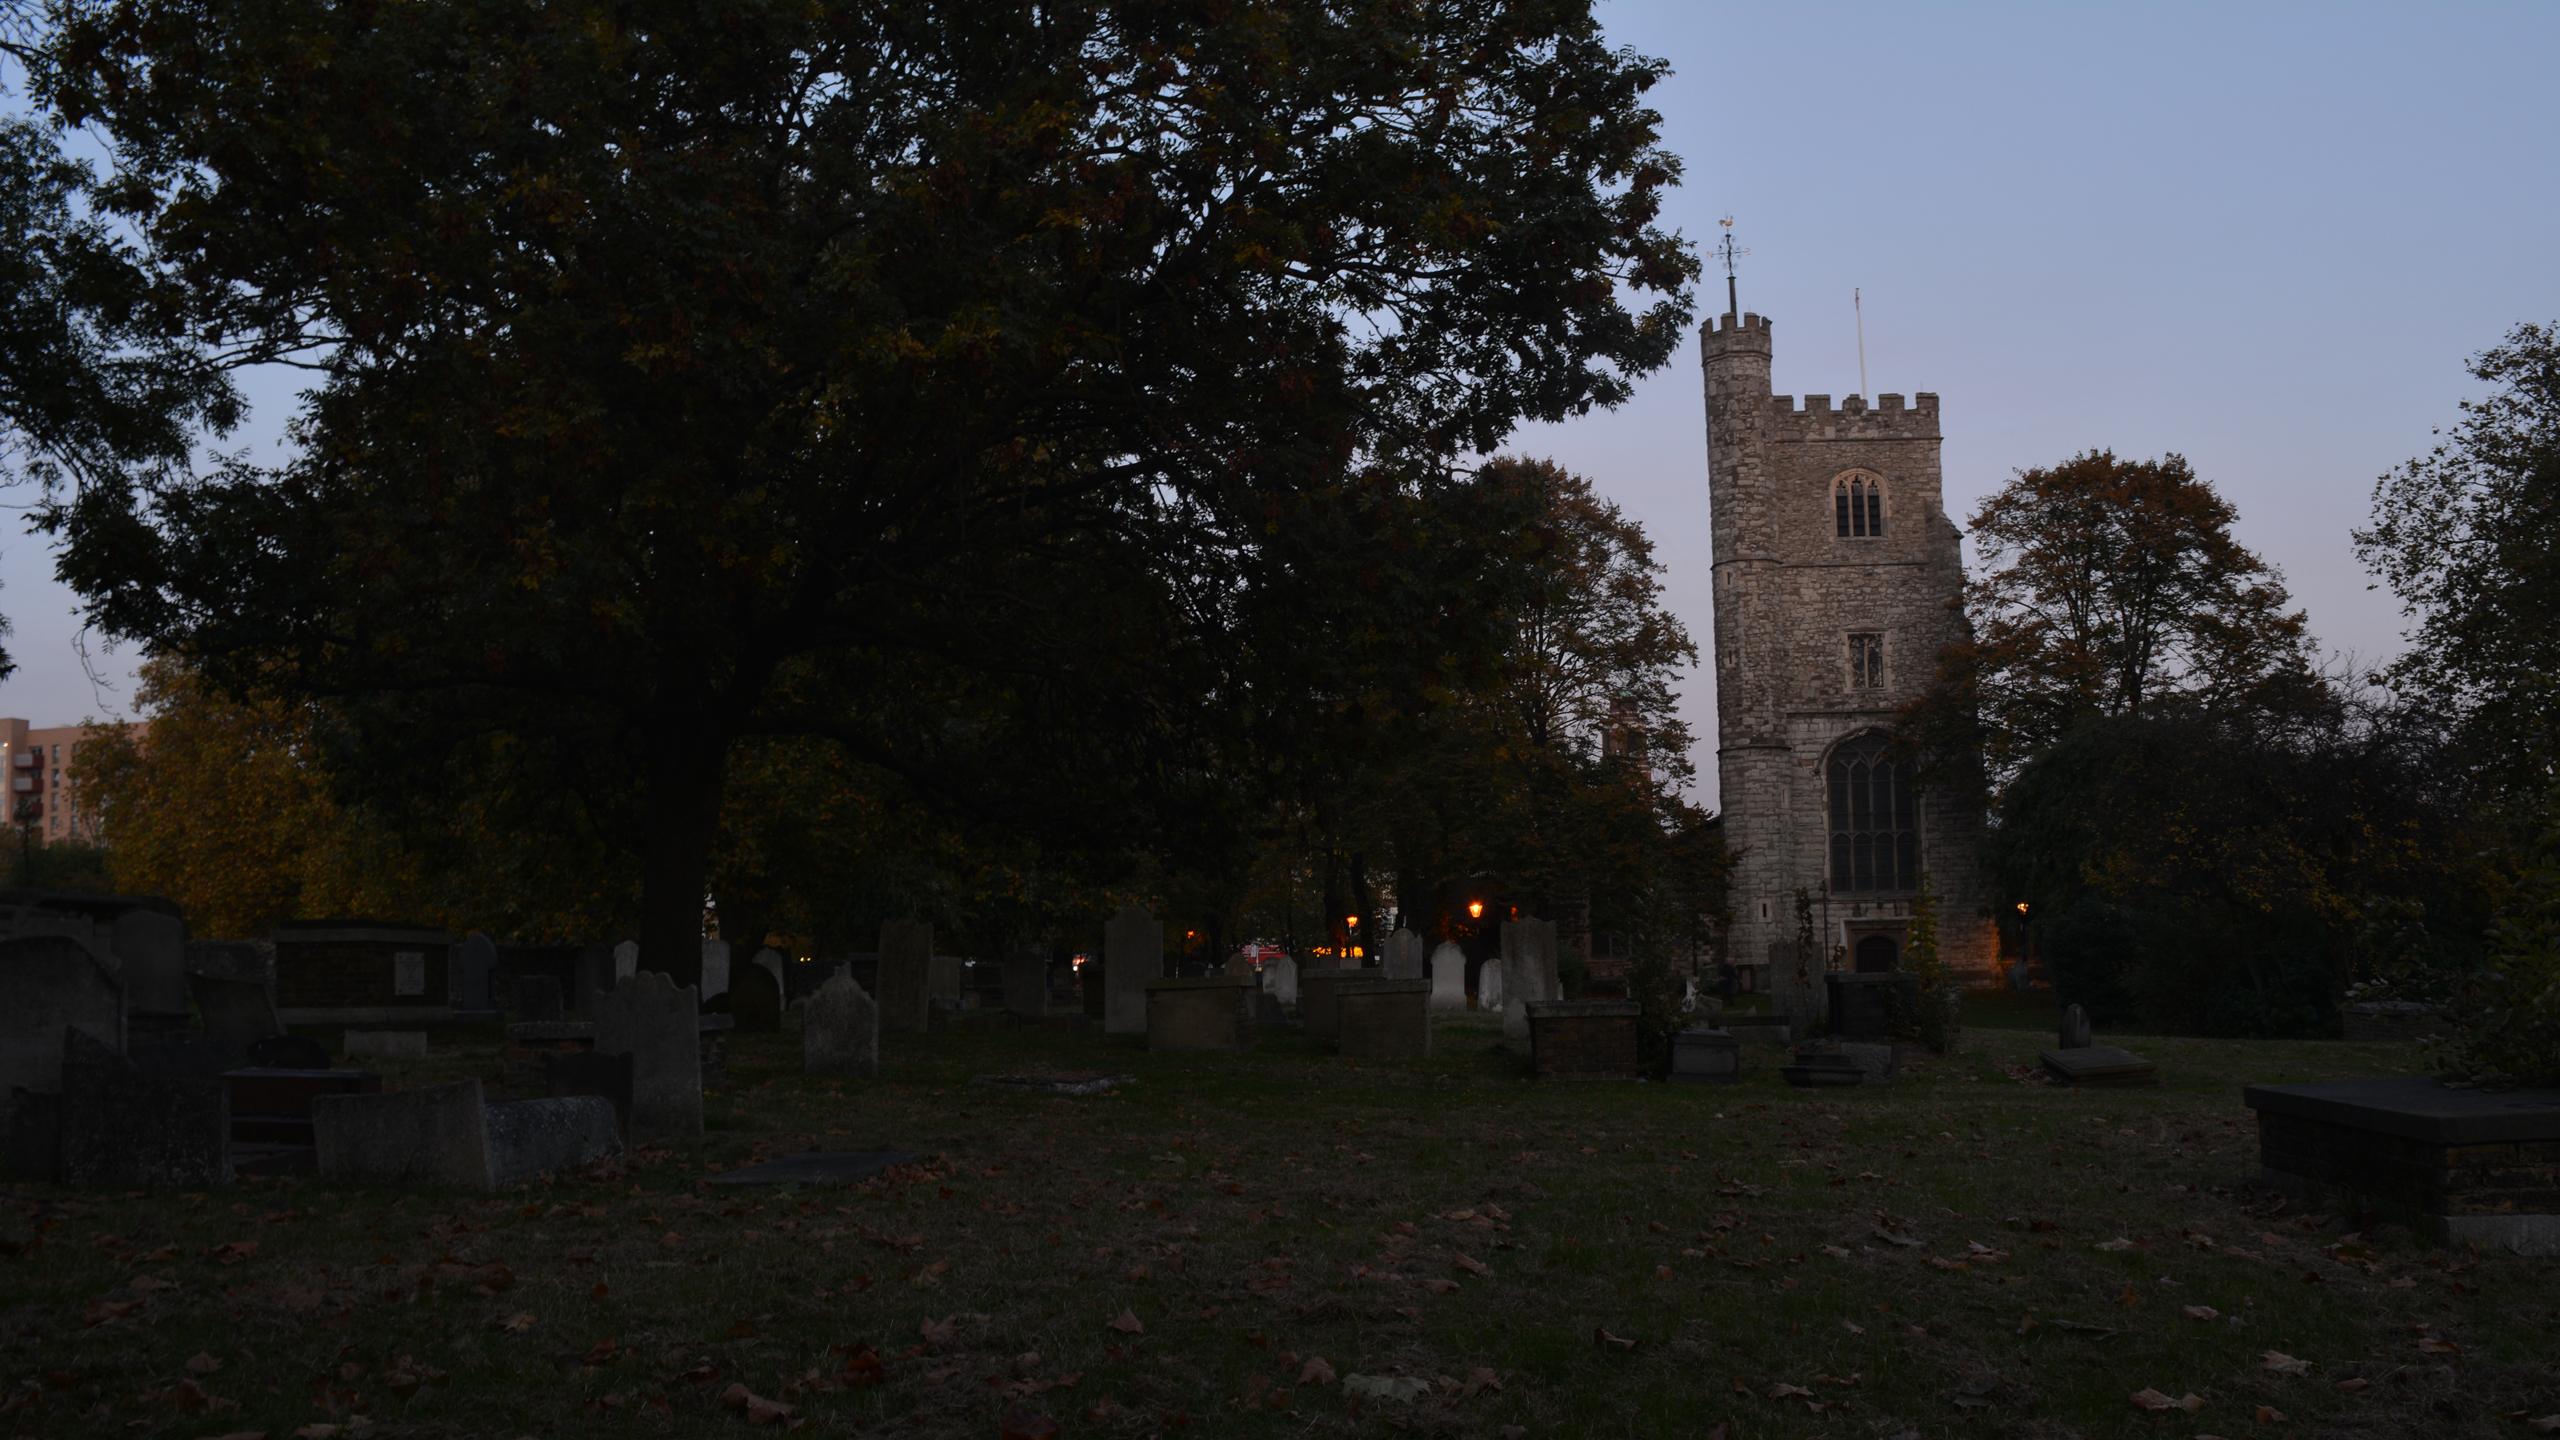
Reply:
M1938 397L1769 395L1769 320L1700 331L1715 543L1715 769L1736 851L1728 961L1792 956L1795 894L1846 969L1894 969L1920 876L1938 948L1997 971L1976 815L1887 751L1894 710L1964 633L1958 530L1938 487ZM1761 976L1766 979L1766 974Z

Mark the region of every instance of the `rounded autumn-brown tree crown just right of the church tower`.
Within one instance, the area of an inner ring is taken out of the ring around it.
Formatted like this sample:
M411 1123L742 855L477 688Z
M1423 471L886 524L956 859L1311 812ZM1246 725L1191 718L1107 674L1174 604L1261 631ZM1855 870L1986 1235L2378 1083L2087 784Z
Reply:
M2322 710L2304 615L2232 520L2181 456L2017 471L1974 510L1969 635L1940 651L1905 733L1933 758L1984 756L1999 784L2099 717Z

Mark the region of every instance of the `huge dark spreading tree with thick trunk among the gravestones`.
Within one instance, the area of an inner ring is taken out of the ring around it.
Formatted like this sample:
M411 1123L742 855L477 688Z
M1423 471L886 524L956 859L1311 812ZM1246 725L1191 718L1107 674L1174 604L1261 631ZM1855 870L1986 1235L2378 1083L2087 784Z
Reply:
M1362 484L1664 364L1661 72L1559 0L72 0L161 333L312 387L282 464L72 477L67 574L620 771L684 976L742 735L1196 784Z

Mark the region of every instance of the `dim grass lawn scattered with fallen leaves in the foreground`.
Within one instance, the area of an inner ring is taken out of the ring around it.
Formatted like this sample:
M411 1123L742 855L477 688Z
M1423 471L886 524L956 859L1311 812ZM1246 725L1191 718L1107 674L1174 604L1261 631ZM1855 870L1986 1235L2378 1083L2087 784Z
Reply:
M1738 1086L1536 1084L1485 1017L1413 1066L1298 1035L1236 1058L891 1038L873 1086L745 1035L699 1150L502 1197L0 1186L0 1427L2527 1437L2560 1414L2560 1261L2358 1232L2248 1181L2243 1081L2406 1074L2406 1048L2109 1035L2166 1084L2012 1079L2048 1040L1979 1025L1902 1084L1792 1092L1774 1048ZM1037 1066L1137 1084L970 1084ZM497 1074L494 1035L392 1084L453 1074ZM804 1148L924 1161L704 1184Z

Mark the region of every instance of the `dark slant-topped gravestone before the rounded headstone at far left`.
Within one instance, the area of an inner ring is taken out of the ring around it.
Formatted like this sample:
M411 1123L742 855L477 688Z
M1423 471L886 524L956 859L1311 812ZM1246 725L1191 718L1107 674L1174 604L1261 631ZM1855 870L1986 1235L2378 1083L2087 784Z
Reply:
M218 1074L136 1066L87 1030L61 1045L61 1184L230 1184L230 1109Z

